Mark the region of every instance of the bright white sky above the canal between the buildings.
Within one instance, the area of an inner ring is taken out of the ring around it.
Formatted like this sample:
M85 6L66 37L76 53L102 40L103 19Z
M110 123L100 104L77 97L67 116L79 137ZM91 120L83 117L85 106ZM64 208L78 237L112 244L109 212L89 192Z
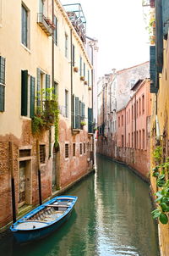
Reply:
M87 36L98 40L98 76L149 60L142 0L60 0L81 3Z

